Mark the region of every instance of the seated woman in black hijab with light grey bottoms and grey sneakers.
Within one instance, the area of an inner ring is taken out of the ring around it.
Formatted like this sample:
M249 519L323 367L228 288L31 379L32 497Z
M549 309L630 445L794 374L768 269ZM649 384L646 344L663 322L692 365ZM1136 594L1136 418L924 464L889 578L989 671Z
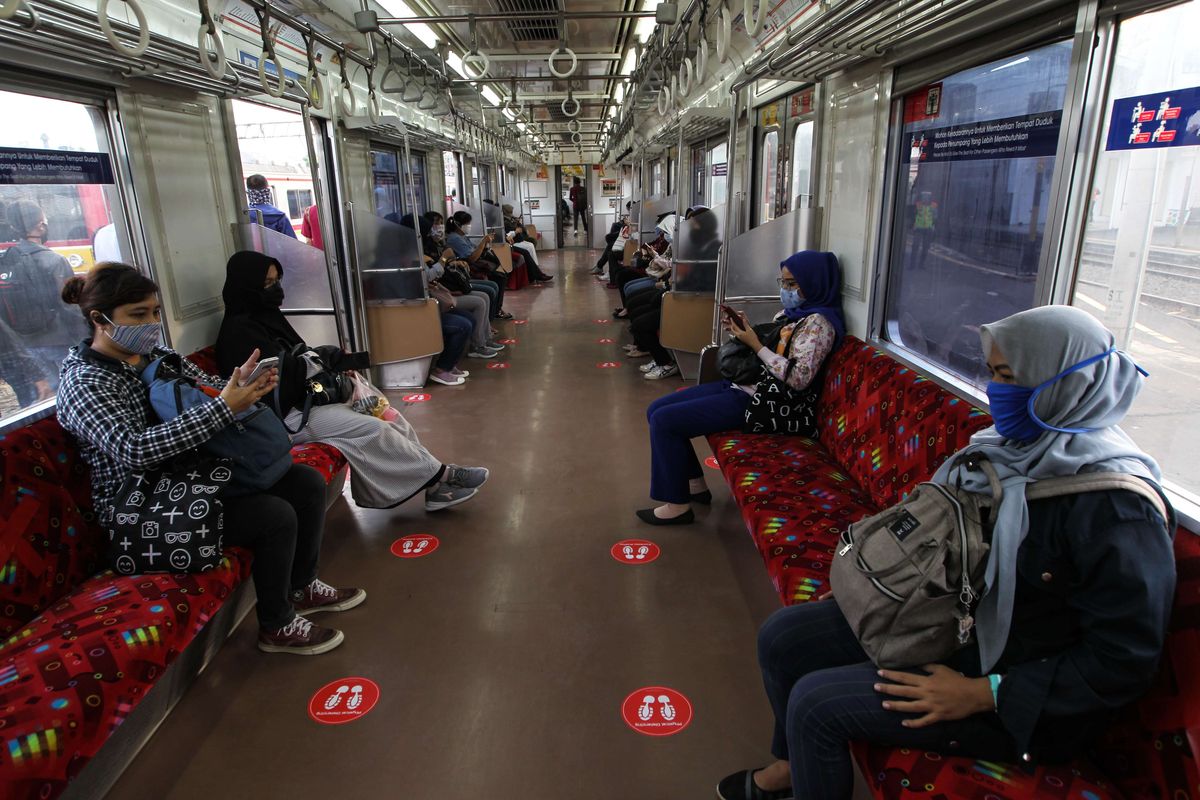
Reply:
M221 296L226 315L217 335L217 365L222 374L246 361L254 350L281 355L304 339L284 318L283 266L262 253L234 253L226 266ZM342 354L350 368L354 357ZM283 359L281 357L281 362ZM288 375L282 365L280 405L288 429L300 425L307 392L304 377ZM329 365L338 368L342 365ZM293 369L293 372L295 372ZM421 446L416 432L401 416L385 421L360 414L349 403L313 405L307 423L292 435L296 444L324 441L350 463L354 501L366 509L391 509L425 489L425 510L439 511L475 497L487 480L482 467L443 464Z

